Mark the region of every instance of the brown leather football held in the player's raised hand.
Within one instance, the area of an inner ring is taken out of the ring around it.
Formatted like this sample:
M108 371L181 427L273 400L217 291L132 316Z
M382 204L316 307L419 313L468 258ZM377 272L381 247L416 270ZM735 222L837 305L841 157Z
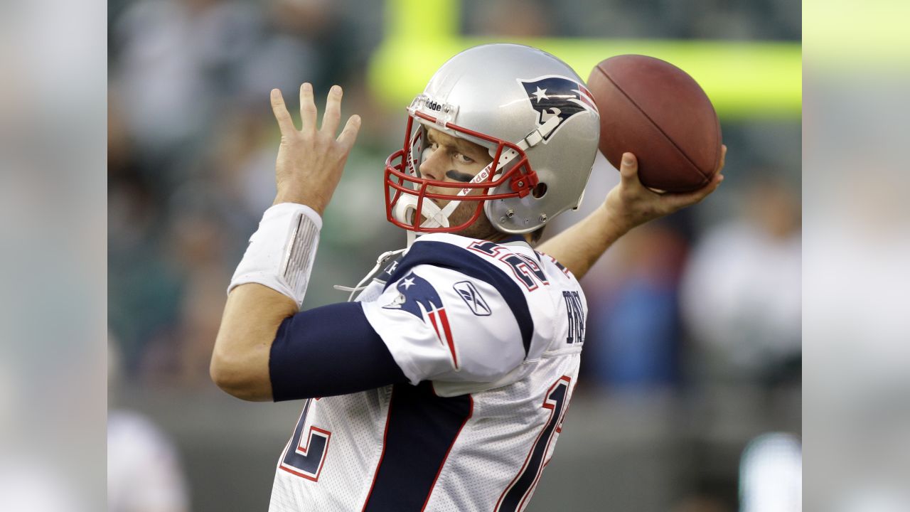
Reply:
M600 148L613 167L629 151L645 187L686 192L711 181L721 125L693 77L652 56L621 55L594 67L588 88L601 111Z

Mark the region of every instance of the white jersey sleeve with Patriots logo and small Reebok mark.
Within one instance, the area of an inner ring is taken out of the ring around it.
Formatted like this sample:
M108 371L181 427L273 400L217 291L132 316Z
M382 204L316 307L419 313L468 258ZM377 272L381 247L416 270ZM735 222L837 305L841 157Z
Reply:
M411 384L491 383L525 357L500 292L459 271L418 265L363 311Z

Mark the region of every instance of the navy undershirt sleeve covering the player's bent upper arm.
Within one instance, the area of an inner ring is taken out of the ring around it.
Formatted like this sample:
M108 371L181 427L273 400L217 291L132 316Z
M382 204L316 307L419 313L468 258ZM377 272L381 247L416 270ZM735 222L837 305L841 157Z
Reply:
M268 371L276 402L408 382L355 302L285 319L272 342Z

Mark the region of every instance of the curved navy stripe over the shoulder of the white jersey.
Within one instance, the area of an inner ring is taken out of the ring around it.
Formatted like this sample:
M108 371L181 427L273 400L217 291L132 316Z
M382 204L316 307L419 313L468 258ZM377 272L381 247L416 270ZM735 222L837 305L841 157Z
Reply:
M534 320L528 301L524 298L518 283L503 273L489 261L484 261L477 254L467 249L444 241L418 241L411 246L408 254L401 260L395 273L389 278L386 287L398 281L411 269L418 265L432 265L453 271L460 271L464 275L482 282L487 282L502 295L502 299L509 304L509 308L518 327L521 330L521 344L524 345L524 355L527 357L531 350L531 336L534 333Z

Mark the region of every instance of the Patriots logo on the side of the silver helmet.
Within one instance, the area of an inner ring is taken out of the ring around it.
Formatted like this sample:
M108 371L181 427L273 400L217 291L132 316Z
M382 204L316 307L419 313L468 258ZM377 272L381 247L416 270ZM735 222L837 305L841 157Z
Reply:
M528 93L528 101L531 102L531 108L537 111L537 124L542 126L550 118L560 118L560 124L556 129L551 130L543 139L548 140L556 133L563 122L576 114L584 111L599 114L597 105L594 104L594 97L591 91L583 84L567 77L547 76L537 77L530 80L519 80L525 92Z

